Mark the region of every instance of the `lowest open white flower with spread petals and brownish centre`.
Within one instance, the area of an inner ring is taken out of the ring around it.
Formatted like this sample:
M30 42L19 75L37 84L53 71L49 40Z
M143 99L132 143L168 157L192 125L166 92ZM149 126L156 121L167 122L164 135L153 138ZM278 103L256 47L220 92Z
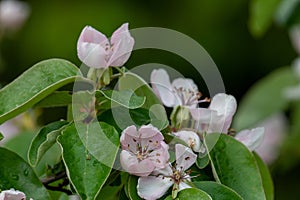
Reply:
M138 195L147 200L155 200L162 197L173 185L173 198L177 192L191 188L186 182L191 181L189 172L186 172L195 162L197 155L182 145L175 145L176 165L169 164L166 168L155 170L150 176L140 177L137 185Z

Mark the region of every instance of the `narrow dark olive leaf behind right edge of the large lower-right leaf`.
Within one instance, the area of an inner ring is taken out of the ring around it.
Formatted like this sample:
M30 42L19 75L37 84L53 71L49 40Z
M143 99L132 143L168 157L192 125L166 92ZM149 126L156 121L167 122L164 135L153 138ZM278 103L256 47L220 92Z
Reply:
M270 174L270 171L266 164L262 161L262 159L257 155L257 153L253 153L254 157L256 159L256 163L258 165L258 168L260 170L260 175L263 181L263 187L266 194L267 200L273 200L274 199L274 185L272 181L272 177Z

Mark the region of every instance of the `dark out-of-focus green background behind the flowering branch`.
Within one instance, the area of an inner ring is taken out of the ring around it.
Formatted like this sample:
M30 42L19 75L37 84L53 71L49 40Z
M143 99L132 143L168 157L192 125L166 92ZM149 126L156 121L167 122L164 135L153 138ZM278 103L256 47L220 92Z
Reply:
M1 41L2 86L44 59L65 58L80 66L76 44L86 25L106 35L124 22L129 22L130 28L164 27L184 33L207 50L221 72L227 93L238 100L257 80L290 65L297 57L286 27L272 24L261 37L250 33L247 0L26 2L31 9L28 20L18 32ZM185 61L157 50L133 52L126 65L130 68L149 62L180 68L189 76ZM273 173L276 199L297 199L299 167Z

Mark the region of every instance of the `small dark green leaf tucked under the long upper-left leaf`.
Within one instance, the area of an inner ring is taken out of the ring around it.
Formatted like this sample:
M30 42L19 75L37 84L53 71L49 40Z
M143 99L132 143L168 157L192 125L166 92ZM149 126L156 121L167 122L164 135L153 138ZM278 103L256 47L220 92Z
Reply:
M55 91L38 102L35 107L62 107L72 103L72 94L69 91Z

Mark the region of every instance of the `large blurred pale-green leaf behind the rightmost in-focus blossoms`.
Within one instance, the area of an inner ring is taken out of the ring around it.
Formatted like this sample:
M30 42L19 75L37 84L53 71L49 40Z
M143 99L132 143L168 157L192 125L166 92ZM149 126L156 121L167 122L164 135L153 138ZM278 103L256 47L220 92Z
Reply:
M250 128L274 113L283 111L289 103L284 89L297 84L297 77L290 67L275 70L258 81L243 97L234 117L237 130Z

